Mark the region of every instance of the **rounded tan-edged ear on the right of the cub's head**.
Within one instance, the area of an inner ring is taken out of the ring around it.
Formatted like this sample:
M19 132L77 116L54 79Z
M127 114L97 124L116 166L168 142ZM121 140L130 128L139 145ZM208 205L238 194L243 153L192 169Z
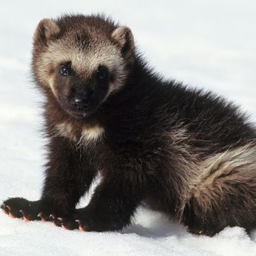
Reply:
M118 27L112 32L111 37L124 57L129 58L135 48L132 31L129 27Z

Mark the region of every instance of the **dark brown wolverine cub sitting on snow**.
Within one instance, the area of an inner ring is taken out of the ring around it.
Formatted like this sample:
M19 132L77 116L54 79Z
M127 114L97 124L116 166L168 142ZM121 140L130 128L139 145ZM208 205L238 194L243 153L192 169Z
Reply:
M256 227L256 129L223 98L165 80L132 32L104 16L43 19L33 74L46 96L41 199L10 198L11 217L107 231L141 203L195 234ZM95 175L88 206L75 209Z

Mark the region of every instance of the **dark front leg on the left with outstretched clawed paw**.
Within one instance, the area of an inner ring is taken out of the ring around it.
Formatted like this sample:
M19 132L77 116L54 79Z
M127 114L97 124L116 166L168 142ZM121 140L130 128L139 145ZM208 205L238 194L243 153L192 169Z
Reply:
M1 209L13 218L51 220L69 215L81 195L89 189L95 171L86 152L80 152L64 138L55 137L49 144L49 161L44 189L39 201L10 198Z

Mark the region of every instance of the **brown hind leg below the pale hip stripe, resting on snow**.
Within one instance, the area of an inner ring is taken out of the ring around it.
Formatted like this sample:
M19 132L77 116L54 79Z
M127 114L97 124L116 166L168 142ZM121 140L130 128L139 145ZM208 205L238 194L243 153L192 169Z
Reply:
M218 169L214 175L209 175L195 187L186 203L183 223L188 226L189 232L209 236L226 226L241 226L247 231L254 229L255 172L242 172L237 167L228 172Z

